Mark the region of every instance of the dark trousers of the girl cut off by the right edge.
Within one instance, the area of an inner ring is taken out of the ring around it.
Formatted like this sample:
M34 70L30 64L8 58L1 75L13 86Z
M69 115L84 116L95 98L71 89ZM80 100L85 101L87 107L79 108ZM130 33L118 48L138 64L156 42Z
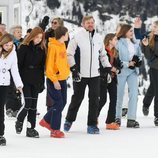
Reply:
M154 87L154 116L158 118L158 69L150 68L151 73L151 82L153 83Z

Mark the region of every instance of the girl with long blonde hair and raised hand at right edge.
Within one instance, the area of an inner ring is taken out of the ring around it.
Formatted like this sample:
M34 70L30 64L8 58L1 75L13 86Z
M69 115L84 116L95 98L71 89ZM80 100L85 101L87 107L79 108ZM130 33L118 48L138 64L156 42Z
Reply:
M154 22L153 30L150 33L149 39L144 38L142 41L142 52L148 60L150 66L150 89L151 96L155 96L154 99L154 124L158 126L158 21ZM149 93L149 92L148 92ZM152 94L153 93L153 94ZM149 94L148 94L149 95ZM149 109L149 108L148 108Z

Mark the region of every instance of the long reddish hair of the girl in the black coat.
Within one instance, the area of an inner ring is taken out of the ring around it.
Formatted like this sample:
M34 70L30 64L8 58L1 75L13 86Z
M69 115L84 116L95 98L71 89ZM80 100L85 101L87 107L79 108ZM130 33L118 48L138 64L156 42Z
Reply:
M34 29L32 29L32 31L30 32L30 34L24 39L24 41L22 42L23 45L29 45L31 41L33 41L33 39L38 35L38 34L42 34L42 41L40 42L40 47L41 49L46 49L45 46L45 36L44 36L44 32L40 27L35 27Z

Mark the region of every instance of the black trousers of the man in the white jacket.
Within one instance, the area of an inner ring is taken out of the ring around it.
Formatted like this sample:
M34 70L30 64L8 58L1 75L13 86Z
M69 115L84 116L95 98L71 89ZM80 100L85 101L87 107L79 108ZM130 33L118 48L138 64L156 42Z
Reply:
M68 108L66 120L73 122L76 120L77 112L84 99L85 88L88 86L89 93L89 110L88 110L88 126L94 126L97 124L97 111L99 105L99 77L94 78L82 78L81 82L73 82L74 94L71 98L71 103Z

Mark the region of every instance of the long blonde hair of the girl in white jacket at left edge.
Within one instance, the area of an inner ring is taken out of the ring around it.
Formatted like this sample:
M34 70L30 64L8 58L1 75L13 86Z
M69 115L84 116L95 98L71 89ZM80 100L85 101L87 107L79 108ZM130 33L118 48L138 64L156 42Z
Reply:
M6 58L13 50L13 47L9 51L5 51L3 49L3 45L8 43L8 42L13 42L13 36L11 34L7 33L7 34L4 34L3 36L0 37L0 47L2 48L2 50L0 52L0 57L3 54L4 58Z

